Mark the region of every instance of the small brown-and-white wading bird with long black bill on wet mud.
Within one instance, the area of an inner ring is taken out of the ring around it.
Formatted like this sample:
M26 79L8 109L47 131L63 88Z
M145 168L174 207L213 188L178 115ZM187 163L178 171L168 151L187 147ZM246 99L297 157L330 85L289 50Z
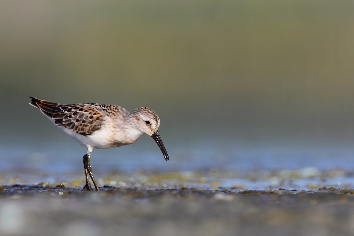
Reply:
M66 105L32 98L29 103L38 108L63 131L87 148L84 155L86 184L83 189L91 190L89 175L98 191L90 166L90 154L98 148L115 148L134 143L143 134L153 137L165 160L169 155L162 143L158 128L159 116L150 108L141 107L132 111L117 105L82 103Z

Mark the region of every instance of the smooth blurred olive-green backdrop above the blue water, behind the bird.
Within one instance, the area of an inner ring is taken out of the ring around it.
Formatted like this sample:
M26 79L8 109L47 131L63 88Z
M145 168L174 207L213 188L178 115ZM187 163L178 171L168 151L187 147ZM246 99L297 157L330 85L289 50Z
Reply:
M35 96L151 107L175 156L352 155L353 12L351 0L1 1L1 146L74 143Z

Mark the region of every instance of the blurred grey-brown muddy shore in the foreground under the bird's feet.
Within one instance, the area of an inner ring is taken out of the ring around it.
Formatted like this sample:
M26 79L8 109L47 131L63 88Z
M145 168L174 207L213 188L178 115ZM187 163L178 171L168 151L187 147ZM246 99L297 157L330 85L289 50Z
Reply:
M0 235L352 235L354 190L0 186Z

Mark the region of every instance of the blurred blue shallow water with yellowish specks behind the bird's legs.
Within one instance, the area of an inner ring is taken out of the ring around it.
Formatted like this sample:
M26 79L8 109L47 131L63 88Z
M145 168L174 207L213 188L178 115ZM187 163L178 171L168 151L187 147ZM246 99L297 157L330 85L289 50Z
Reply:
M165 142L170 155L170 160L165 161L154 141L149 137L144 138L141 138L142 142L132 145L92 152L90 163L99 184L150 188L146 185L148 183L144 185L144 181L137 185L122 184L126 181L121 178L133 178L140 172L154 172L160 177L158 184L151 188L173 188L176 183L203 189L354 188L354 166L351 165L353 149L350 148L263 146L252 149L250 146L217 143L204 146L195 143L183 148ZM63 145L56 142L62 142ZM69 137L48 140L41 145L27 143L19 148L2 146L0 183L82 183L82 156L85 152ZM107 180L112 173L122 174L113 174L114 179ZM173 182L171 176L177 180Z

